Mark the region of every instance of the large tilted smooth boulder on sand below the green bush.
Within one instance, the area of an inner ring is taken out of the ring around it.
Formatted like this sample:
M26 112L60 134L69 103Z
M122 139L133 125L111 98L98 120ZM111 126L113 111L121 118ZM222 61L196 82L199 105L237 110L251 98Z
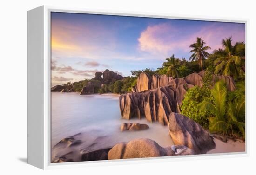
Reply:
M205 154L216 147L212 137L198 123L182 114L171 113L168 128L176 145L193 149L196 154Z

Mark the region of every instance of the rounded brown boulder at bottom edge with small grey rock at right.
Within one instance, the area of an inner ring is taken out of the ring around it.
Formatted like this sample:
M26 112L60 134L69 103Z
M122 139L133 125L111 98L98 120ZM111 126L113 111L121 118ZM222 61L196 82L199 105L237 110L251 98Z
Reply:
M108 152L108 159L129 159L159 156L179 156L194 154L192 149L185 146L163 148L150 139L135 139L128 143L118 143Z

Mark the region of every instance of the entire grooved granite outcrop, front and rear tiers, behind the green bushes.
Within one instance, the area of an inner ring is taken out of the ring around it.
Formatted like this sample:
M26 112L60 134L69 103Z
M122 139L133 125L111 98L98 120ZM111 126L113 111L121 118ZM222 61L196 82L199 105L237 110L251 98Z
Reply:
M122 118L146 117L149 122L158 121L167 125L171 112L180 113L187 90L196 85L202 87L203 76L204 71L175 79L165 75L154 75L152 78L141 73L133 87L134 93L122 94L119 97ZM213 81L217 79L223 79L228 90L236 89L233 78L214 75Z

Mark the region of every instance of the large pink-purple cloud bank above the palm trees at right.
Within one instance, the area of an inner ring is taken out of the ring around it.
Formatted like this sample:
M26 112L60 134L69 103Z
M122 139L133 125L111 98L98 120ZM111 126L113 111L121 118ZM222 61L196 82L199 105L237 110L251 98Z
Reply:
M245 40L245 28L237 23L211 23L196 27L180 27L171 23L160 23L148 26L138 38L139 50L152 54L168 54L170 52L189 52L189 45L201 37L212 50L222 47L222 39L233 36L233 41ZM188 32L191 31L191 32Z

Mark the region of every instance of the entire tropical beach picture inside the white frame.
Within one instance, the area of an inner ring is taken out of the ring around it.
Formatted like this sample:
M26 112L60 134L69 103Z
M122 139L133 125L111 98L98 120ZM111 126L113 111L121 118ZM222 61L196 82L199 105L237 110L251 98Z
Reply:
M51 162L245 151L245 23L51 12Z

